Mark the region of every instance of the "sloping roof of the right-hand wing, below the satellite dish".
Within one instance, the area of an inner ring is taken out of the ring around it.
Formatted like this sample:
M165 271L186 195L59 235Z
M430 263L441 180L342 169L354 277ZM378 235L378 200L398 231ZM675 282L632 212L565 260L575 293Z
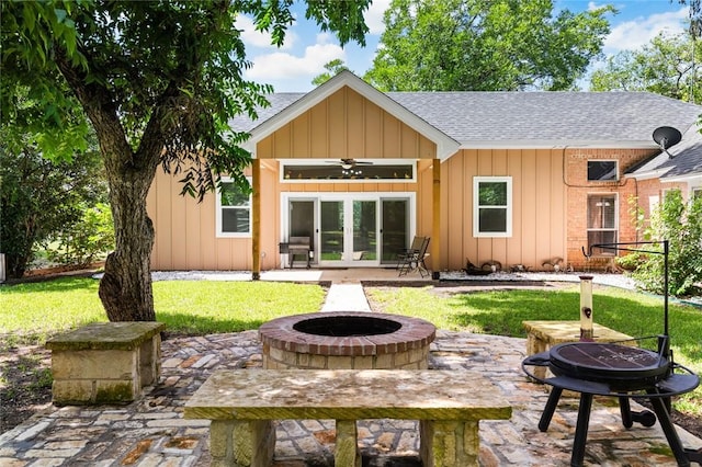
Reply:
M692 178L702 179L702 126L693 125L682 134L679 144L668 149L672 157L660 152L642 164L631 168L627 174L636 179L660 178L676 182Z

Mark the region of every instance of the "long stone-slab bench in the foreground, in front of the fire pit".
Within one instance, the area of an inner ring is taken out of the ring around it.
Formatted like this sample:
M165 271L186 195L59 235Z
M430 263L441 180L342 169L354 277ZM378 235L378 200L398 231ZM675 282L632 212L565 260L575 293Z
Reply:
M219 371L186 402L210 419L213 466L268 467L273 420L336 420L336 467L359 467L356 420L419 420L424 467L478 465L480 420L511 417L499 389L461 371Z

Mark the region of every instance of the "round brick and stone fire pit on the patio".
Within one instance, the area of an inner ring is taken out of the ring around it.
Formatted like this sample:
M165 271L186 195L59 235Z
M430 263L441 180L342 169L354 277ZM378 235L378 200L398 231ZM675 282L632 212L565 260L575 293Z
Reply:
M267 369L427 369L435 335L423 319L363 311L293 315L259 328Z

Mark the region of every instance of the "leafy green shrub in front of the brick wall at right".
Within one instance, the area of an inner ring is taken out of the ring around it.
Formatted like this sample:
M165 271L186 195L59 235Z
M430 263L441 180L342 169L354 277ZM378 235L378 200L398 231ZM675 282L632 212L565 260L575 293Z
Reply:
M687 296L702 281L702 198L686 202L679 190L671 190L652 213L645 239L668 240L669 293ZM658 246L663 251L663 247ZM639 259L632 276L645 291L664 293L664 257L648 254Z

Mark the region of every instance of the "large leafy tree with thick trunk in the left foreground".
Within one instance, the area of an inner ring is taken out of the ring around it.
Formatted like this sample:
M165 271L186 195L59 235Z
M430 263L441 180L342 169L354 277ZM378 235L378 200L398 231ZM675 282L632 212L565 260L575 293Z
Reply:
M342 44L363 43L369 0L309 1L306 16ZM246 138L228 127L265 105L268 86L244 79L250 66L239 14L281 45L293 0L3 1L2 79L25 82L60 114L67 83L98 136L110 186L115 251L100 283L112 321L155 320L150 278L154 227L146 196L156 170L181 173L183 192L213 190L219 174L248 187ZM58 71L58 72L57 72ZM55 79L56 78L56 79ZM12 103L2 99L2 107Z

